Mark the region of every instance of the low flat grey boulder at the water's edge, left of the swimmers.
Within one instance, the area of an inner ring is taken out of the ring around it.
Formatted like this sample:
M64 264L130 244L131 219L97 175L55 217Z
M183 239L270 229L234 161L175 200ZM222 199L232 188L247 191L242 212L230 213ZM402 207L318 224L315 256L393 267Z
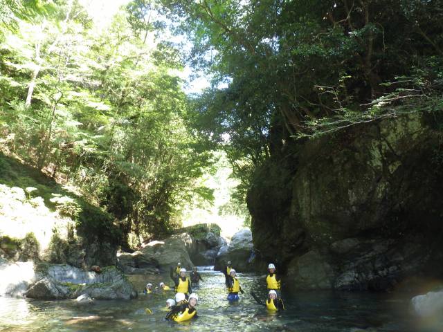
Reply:
M133 299L137 297L132 284L115 266L101 273L84 271L69 265L37 266L39 279L25 293L33 299L75 299L88 294L96 299Z

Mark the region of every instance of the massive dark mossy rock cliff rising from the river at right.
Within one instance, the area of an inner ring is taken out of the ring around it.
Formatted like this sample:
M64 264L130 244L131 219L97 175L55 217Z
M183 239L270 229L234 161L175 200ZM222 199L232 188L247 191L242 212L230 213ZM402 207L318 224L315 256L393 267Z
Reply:
M313 140L275 138L247 198L255 268L273 261L303 289L378 291L442 277L436 129L431 116L410 114Z

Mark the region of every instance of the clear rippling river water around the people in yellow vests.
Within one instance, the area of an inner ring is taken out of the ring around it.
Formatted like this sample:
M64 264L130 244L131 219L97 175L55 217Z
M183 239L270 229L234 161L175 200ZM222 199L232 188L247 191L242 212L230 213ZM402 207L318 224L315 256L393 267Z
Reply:
M264 279L239 274L246 290L240 301L226 300L224 275L202 269L198 318L186 323L165 321L165 301L173 291L143 295L147 282L172 285L167 275L130 276L140 290L132 301L96 301L79 306L75 301L37 301L0 297L0 331L425 331L441 329L419 322L410 314L408 299L389 294L284 292L287 310L268 313L248 294L265 296ZM147 314L150 308L152 314Z

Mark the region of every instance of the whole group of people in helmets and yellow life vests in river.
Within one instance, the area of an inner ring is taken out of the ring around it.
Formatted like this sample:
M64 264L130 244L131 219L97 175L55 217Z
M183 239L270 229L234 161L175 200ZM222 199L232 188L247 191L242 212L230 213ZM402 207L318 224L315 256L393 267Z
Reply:
M268 289L268 297L265 302L262 302L254 293L251 295L257 301L257 303L266 306L269 311L282 311L284 310L284 304L280 297L280 275L275 273L274 264L268 266L269 274L266 276L266 287ZM199 286L199 282L203 281L201 275L197 272L197 268L193 268L190 273L190 278L186 277L186 268L182 268L181 264L170 268L170 277L174 282L175 299L166 300L166 308L168 314L166 319L174 320L175 322L185 322L192 319L197 314L196 306L199 301L199 297L196 293L192 293L192 287ZM228 301L239 300L239 293L244 294L242 286L240 286L237 273L232 266L232 263L228 261L226 268L223 270L225 275L225 284L228 288ZM165 283L159 284L159 290L169 291L171 288ZM149 294L154 290L152 284L148 283L143 293Z

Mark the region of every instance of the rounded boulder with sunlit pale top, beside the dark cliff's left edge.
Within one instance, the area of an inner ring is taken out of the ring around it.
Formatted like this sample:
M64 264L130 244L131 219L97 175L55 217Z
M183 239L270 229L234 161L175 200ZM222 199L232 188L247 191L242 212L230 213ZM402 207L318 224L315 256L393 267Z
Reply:
M215 269L221 270L231 261L233 268L240 272L251 270L253 242L251 230L240 230L235 233L229 246L222 246L215 259Z

